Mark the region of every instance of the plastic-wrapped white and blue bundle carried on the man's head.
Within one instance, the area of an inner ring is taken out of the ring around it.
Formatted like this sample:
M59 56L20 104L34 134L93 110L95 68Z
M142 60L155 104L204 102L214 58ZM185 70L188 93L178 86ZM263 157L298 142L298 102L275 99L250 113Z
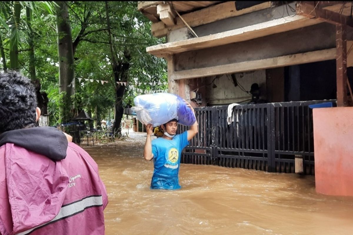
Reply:
M172 119L177 119L182 125L192 125L196 118L184 100L175 94L155 93L138 95L134 98L137 119L143 124L159 126Z

